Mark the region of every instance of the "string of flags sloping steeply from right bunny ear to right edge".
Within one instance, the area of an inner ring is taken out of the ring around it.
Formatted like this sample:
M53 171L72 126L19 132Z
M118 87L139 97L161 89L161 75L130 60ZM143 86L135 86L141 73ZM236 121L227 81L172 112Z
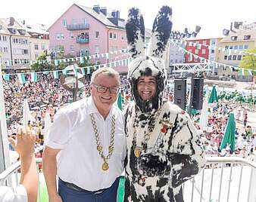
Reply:
M244 68L237 67L237 66L230 66L230 65L227 65L227 64L217 63L215 61L205 59L204 57L199 57L197 54L193 54L189 50L186 50L185 48L181 47L180 44L179 44L179 41L180 40L170 39L170 42L174 46L178 47L178 49L180 51L182 51L183 54L187 54L188 55L189 61L192 61L192 59L194 57L195 60L199 59L201 63L212 63L212 64L215 64L215 68L219 68L220 66L223 66L223 69L229 68L231 71L236 70L236 71L239 72L239 75L245 75L245 71L247 71L249 75L253 75L252 72L256 73L256 70L254 70L254 69L244 69Z

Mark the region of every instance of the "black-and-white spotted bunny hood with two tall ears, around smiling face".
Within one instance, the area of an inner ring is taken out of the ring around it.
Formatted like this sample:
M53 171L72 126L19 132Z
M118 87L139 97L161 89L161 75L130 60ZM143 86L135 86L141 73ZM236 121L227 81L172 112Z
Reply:
M145 53L145 26L142 14L138 8L131 8L126 22L128 51L133 58L129 65L128 78L136 106L144 112L155 112L163 105L164 88L167 82L167 71L163 56L173 23L172 10L163 6L158 12L149 43L148 54ZM156 95L152 99L142 100L137 90L141 76L154 76L157 81Z

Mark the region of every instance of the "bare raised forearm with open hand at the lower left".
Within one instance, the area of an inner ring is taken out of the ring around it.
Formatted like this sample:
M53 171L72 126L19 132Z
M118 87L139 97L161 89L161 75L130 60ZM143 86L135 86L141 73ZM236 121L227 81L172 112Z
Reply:
M35 134L25 127L17 130L16 139L14 137L8 139L20 155L20 184L27 191L28 202L36 202L38 191L38 177L34 155L35 139Z

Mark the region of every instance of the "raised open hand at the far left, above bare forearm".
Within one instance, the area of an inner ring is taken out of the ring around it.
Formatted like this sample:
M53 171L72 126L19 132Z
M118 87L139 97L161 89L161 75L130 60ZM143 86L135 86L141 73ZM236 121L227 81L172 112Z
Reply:
M31 156L34 154L36 135L29 127L20 127L17 129L17 136L11 136L8 141L14 147L20 158Z

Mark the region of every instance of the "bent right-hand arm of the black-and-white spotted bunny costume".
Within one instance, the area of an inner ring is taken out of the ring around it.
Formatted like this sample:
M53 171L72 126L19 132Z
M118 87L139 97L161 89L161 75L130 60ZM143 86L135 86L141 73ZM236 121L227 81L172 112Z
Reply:
M198 132L186 114L177 114L169 140L172 186L177 187L204 167L204 150Z

